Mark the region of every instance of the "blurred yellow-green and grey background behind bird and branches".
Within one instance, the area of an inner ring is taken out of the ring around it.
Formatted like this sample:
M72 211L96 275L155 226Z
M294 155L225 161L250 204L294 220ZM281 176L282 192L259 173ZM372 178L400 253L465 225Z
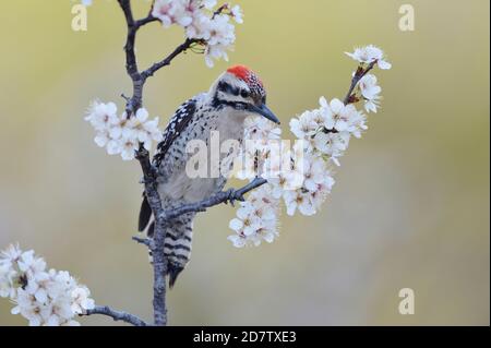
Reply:
M147 1L137 3L144 15ZM415 32L398 28L407 1L237 1L230 62L212 70L188 53L148 84L145 105L167 122L230 63L256 70L270 106L288 120L346 93L355 63L375 44L393 63L379 71L383 108L337 169L323 211L282 217L273 244L237 250L235 212L195 224L191 264L169 295L172 325L454 325L490 323L488 0L410 1ZM140 205L136 163L107 156L83 121L94 98L130 93L116 0L96 0L88 31L71 29L74 2L17 0L0 11L0 248L19 241L87 284L100 304L149 319L152 275L131 241ZM144 28L142 67L182 40ZM398 291L416 314L398 313ZM0 301L0 325L24 325ZM112 325L94 316L83 324Z

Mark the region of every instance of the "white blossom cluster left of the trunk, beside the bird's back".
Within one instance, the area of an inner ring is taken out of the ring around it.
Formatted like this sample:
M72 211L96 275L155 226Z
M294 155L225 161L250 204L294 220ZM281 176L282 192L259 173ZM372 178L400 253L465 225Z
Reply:
M163 140L158 118L149 120L148 111L144 108L131 117L128 117L125 111L118 116L116 104L94 101L85 120L96 131L95 143L106 147L109 155L121 155L123 160L134 158L140 143L149 151L154 141Z

